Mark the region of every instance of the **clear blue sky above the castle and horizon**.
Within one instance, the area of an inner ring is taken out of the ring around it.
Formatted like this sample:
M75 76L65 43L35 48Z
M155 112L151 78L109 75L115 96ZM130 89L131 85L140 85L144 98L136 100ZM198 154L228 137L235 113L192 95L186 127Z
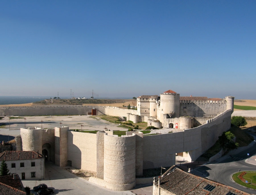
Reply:
M0 1L0 96L256 99L256 1Z

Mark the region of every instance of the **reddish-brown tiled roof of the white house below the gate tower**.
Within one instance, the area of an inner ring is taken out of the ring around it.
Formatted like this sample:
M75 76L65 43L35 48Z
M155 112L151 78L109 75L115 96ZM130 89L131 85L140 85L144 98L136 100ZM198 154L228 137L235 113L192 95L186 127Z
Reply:
M44 158L34 151L4 151L0 153L0 161L15 161Z

